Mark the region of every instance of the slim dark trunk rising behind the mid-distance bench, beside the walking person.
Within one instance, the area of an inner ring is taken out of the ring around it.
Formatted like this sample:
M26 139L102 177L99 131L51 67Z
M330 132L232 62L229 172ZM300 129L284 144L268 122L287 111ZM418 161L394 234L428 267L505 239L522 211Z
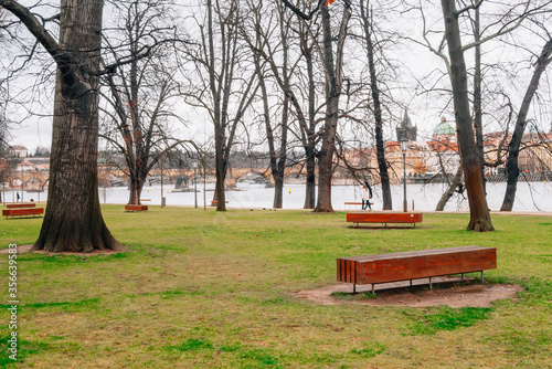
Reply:
M383 210L392 210L393 203L391 199L391 184L389 181L388 162L385 161L385 150L383 147L383 118L380 102L380 88L378 87L378 74L375 73L374 50L372 44L372 35L369 24L369 17L364 12L364 2L360 1L360 11L362 25L364 29L364 41L367 42L367 56L370 68L370 87L372 89L372 99L374 105L375 118L375 149L378 157L378 167L380 169L380 179L383 197Z

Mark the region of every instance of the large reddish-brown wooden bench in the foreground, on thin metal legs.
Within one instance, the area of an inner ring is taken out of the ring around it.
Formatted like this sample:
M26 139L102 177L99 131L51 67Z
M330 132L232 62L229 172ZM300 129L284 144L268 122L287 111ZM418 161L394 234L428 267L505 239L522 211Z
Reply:
M338 281L358 284L411 281L432 277L481 272L497 268L497 249L480 246L459 246L449 249L407 251L390 254L341 257L337 260Z

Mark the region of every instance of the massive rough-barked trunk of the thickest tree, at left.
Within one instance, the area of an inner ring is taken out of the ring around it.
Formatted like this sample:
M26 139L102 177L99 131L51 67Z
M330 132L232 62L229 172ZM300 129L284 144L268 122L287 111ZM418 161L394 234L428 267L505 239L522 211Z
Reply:
M60 45L76 63L57 63L50 189L33 250L117 250L99 208L98 77L102 0L62 0Z

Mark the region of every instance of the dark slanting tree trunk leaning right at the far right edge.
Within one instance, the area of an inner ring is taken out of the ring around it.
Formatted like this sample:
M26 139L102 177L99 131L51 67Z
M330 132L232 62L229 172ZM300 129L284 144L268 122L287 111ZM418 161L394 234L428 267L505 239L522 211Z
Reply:
M506 161L506 193L502 201L502 207L500 211L511 211L513 208L513 201L516 200L516 190L518 188L518 177L519 171L519 149L521 146L521 139L523 138L523 131L527 126L527 113L531 106L531 101L533 99L537 89L539 88L539 81L542 73L552 61L552 40L549 40L544 48L542 49L541 55L537 61L537 67L533 72L531 83L529 84L526 95L523 96L523 102L521 103L518 118L516 119L516 128L513 129L512 139L510 145L508 145L508 159Z

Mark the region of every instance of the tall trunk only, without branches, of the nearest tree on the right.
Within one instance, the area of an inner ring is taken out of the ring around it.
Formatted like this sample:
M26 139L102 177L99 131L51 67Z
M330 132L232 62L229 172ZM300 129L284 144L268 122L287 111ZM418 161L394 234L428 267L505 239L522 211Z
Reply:
M456 130L464 166L464 179L468 193L470 220L468 230L493 231L485 197L481 160L474 139L474 126L469 113L466 62L461 50L460 30L454 0L442 0L445 35L450 57L450 83L456 117Z

